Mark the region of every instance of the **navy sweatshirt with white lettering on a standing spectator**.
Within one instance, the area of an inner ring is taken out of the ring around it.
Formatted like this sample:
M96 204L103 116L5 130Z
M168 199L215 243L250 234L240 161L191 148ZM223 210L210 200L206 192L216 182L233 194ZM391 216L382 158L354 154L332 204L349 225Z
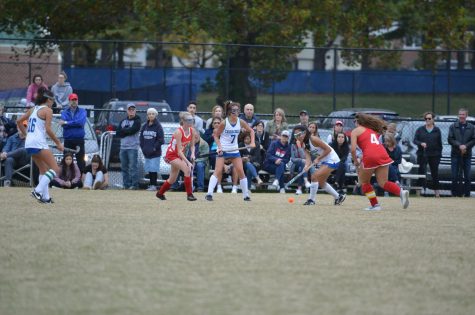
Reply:
M165 142L162 124L155 119L152 125L146 121L140 129L140 148L143 156L153 159L162 155L162 144Z

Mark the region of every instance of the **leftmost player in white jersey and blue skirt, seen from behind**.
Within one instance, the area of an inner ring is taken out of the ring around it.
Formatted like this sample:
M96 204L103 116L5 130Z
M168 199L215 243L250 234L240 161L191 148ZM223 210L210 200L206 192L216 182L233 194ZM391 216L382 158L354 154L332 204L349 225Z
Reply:
M35 107L17 120L17 126L19 132L26 135L25 149L32 154L33 161L40 170L40 181L31 195L42 203L52 203L48 185L56 174L59 174L60 169L53 153L48 149L46 135L54 141L59 151L63 151L64 147L51 129L53 93L50 91L38 92L35 103L37 104ZM28 121L27 128L23 125L24 121Z

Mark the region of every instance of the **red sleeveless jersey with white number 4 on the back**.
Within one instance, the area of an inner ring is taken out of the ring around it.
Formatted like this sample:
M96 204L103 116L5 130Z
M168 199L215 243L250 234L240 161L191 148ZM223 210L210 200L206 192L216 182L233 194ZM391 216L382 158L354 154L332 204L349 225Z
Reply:
M363 161L361 163L363 168L377 168L393 162L384 146L379 142L379 135L374 130L366 128L358 136L356 143L363 151Z

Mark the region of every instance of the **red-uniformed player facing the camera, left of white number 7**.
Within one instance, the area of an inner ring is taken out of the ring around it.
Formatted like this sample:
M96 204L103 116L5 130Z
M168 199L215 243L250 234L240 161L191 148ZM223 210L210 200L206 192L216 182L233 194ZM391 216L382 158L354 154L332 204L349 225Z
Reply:
M170 164L171 170L168 179L163 183L160 190L157 191L157 198L160 200L166 200L165 192L170 189L170 186L176 181L178 173L180 171L184 174L185 189L187 199L189 201L195 201L193 196L193 190L191 187L191 170L193 166L193 160L195 159L195 140L193 137L193 116L188 112L180 113L180 127L173 133L170 144L168 144L167 153L165 155L165 162ZM190 160L185 156L185 147L190 144L191 155Z

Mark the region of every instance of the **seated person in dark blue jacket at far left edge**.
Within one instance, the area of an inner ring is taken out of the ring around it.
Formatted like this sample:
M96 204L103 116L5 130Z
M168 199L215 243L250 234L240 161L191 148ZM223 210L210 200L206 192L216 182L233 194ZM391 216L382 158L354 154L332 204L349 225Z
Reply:
M25 149L25 136L17 132L8 138L3 152L0 153L0 160L5 164L5 179L3 186L10 187L13 170L30 163L31 155Z

